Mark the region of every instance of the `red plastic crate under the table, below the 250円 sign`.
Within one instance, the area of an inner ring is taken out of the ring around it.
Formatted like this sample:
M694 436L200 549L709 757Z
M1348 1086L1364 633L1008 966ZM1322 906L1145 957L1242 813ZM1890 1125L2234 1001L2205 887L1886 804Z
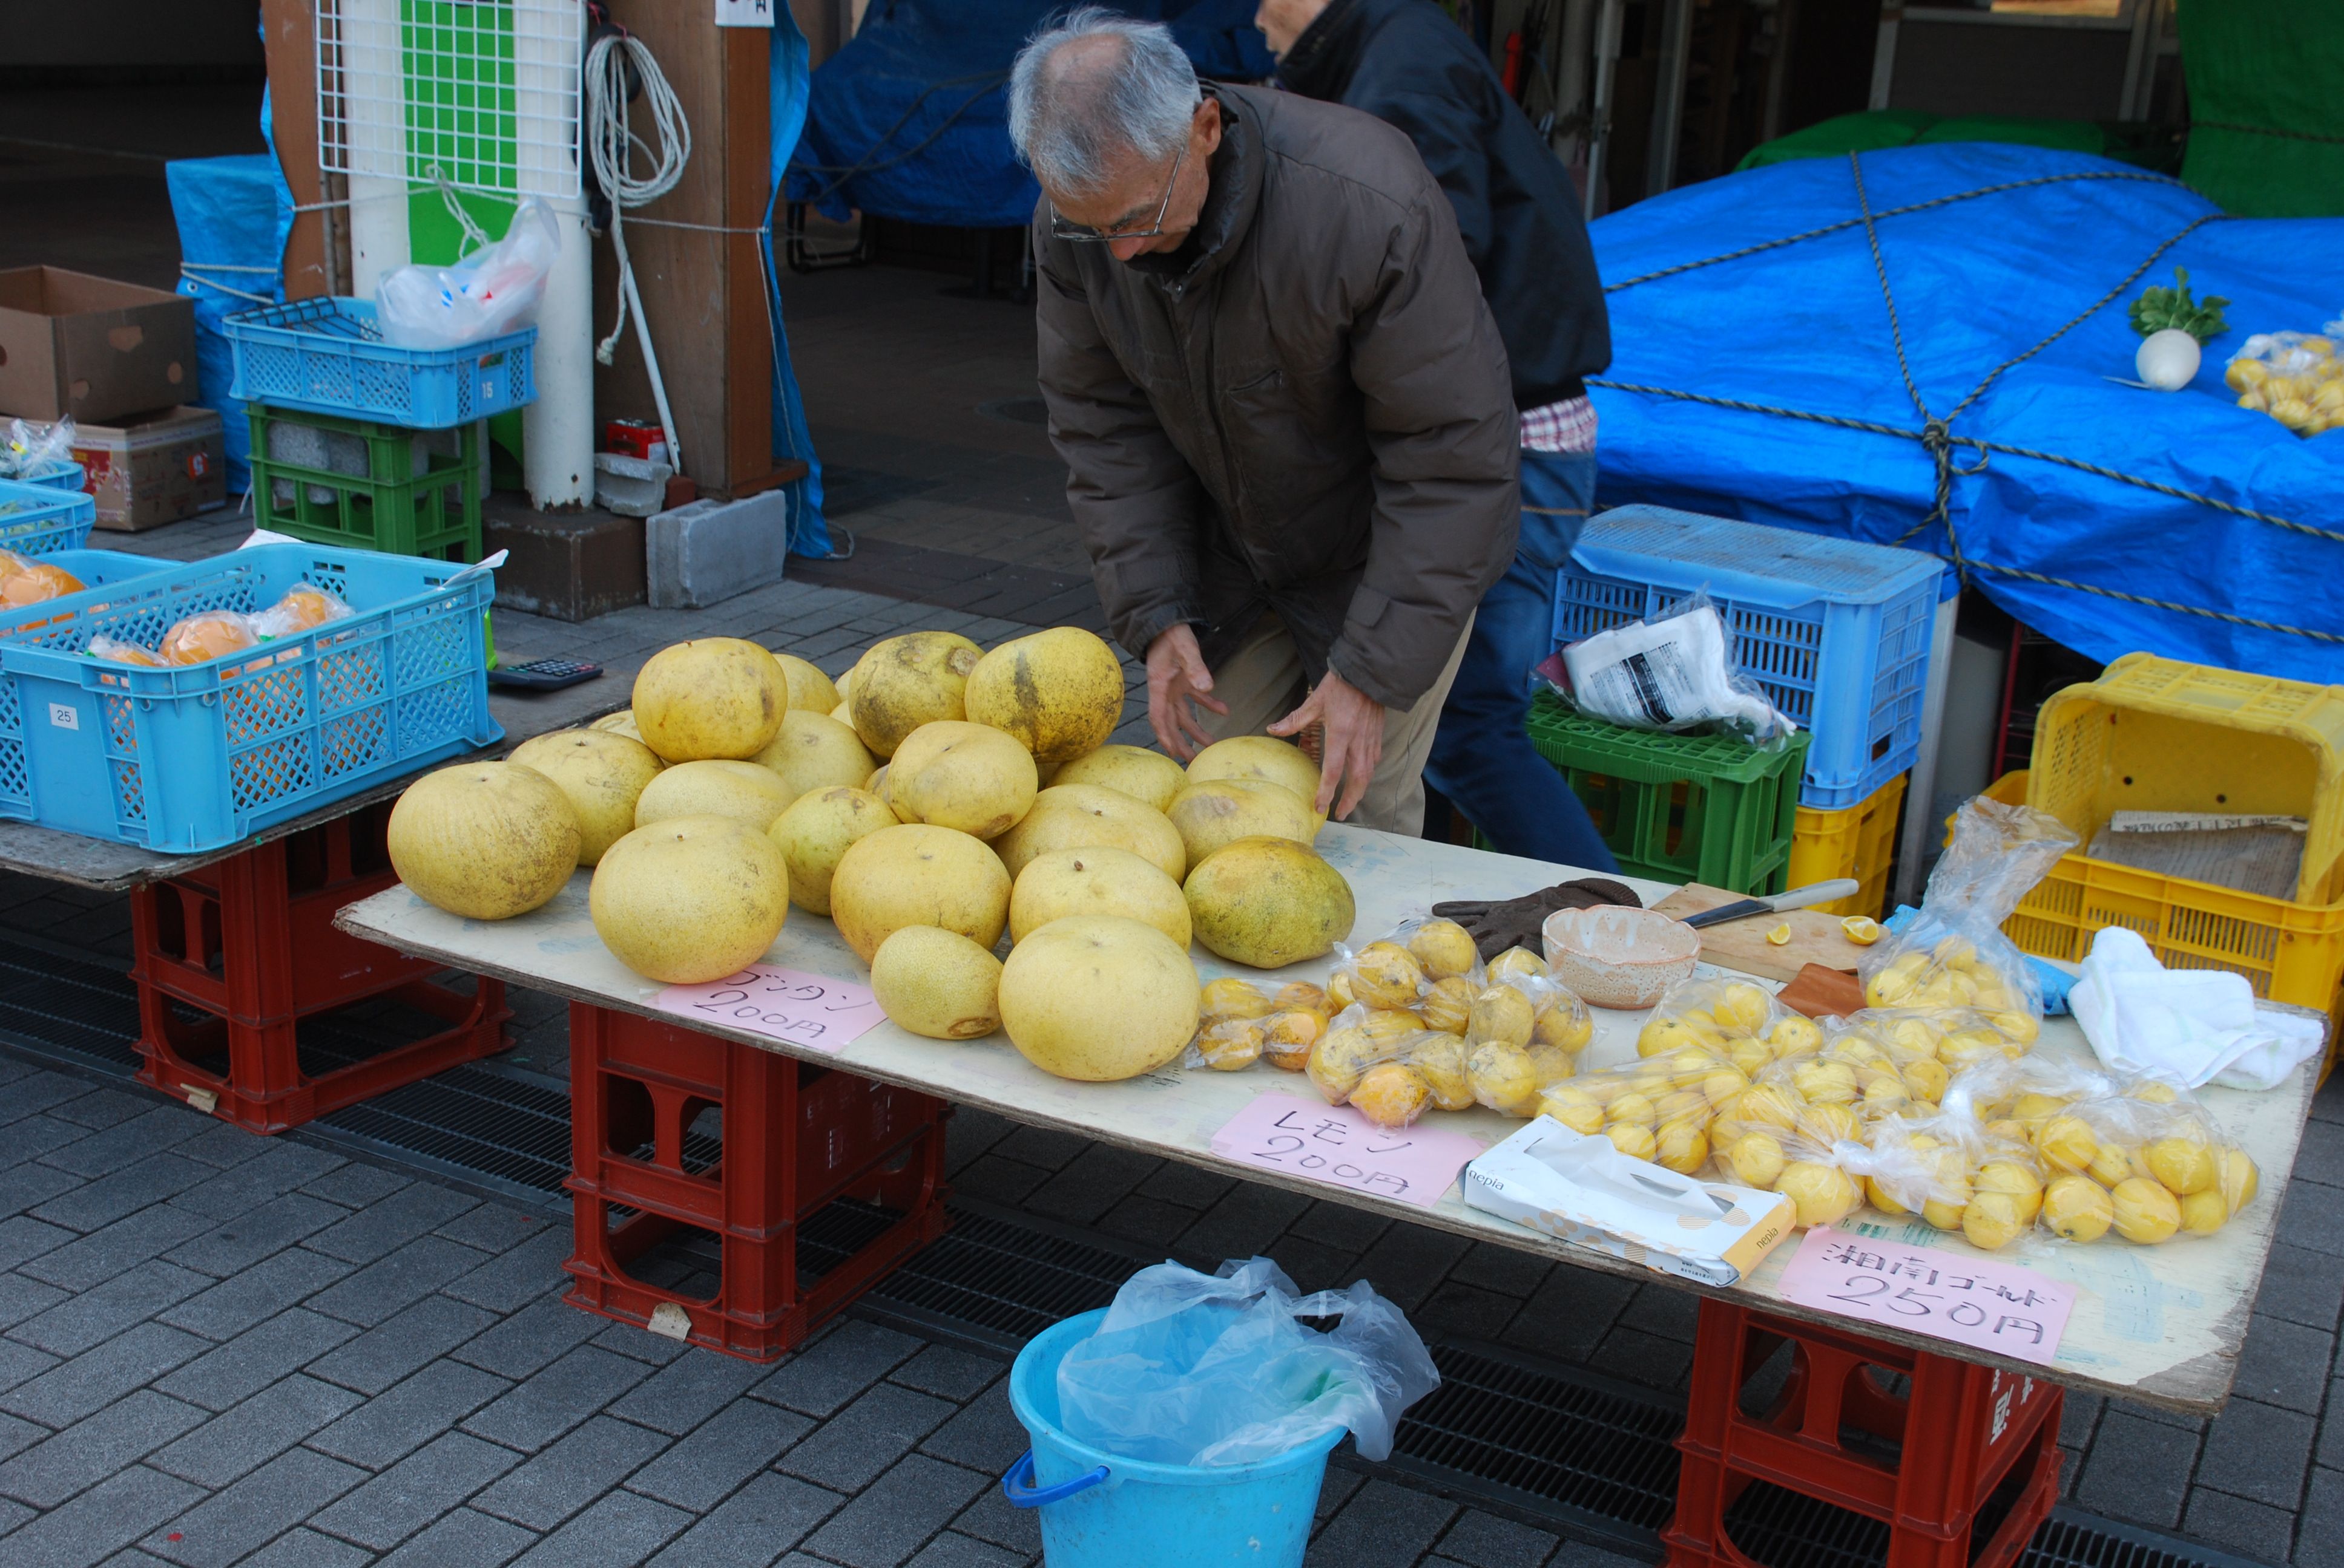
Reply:
M1751 1413L1744 1385L1784 1341L1791 1376ZM1756 1568L1725 1512L1770 1481L1887 1523L1885 1568L2009 1568L2058 1502L2063 1404L2056 1383L1704 1298L1667 1563ZM2013 1474L2018 1498L1974 1552L1981 1507Z

